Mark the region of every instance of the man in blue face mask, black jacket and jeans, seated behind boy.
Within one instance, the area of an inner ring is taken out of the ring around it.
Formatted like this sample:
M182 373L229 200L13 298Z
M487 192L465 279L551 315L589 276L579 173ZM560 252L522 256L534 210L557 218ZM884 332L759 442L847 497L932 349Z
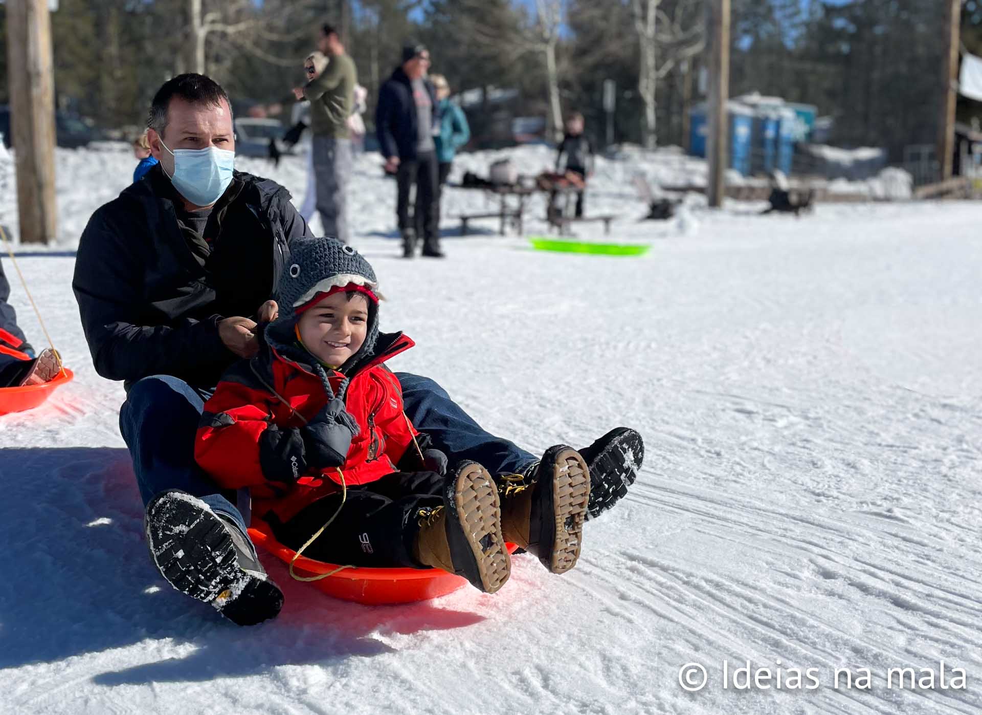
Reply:
M312 237L286 189L234 171L231 103L217 83L195 74L164 83L147 125L160 164L92 214L72 287L96 372L127 390L120 431L144 506L184 494L168 500L182 509L147 512L147 533L170 529L184 545L173 559L151 552L151 562L182 593L251 625L276 616L283 594L248 538L248 495L196 466L194 438L222 373L258 355L291 247ZM409 421L455 463L534 475L544 461L482 429L433 380L395 377ZM578 452L596 516L627 493L643 444L619 427ZM235 597L220 598L226 590Z

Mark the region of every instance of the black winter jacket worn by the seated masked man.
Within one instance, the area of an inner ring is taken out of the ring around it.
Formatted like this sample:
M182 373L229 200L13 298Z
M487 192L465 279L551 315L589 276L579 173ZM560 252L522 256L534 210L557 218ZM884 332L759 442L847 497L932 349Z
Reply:
M128 387L156 374L213 387L237 359L218 321L253 316L290 242L309 235L286 189L236 172L212 210L218 229L201 265L178 224L180 200L156 166L92 214L79 243L72 287L92 361Z

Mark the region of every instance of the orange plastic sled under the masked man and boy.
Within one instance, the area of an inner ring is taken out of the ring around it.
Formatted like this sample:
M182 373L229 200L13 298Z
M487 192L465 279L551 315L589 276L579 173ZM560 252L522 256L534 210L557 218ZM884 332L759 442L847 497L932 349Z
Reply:
M297 553L277 541L269 524L257 517L252 517L248 535L256 546L261 546L287 564ZM510 552L516 548L515 544L508 544ZM305 556L301 556L294 564L294 571L300 576L327 574L337 568L337 564L327 564ZM425 601L453 593L467 585L465 578L440 569L365 568L342 569L337 574L311 583L329 596L368 606Z

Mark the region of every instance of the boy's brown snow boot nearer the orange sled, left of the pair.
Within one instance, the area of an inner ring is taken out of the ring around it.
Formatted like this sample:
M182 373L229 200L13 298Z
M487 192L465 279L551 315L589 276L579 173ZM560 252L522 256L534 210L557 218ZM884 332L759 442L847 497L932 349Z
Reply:
M464 462L447 476L442 507L420 510L413 544L416 561L463 576L494 593L512 574L501 532L498 488L487 469Z

